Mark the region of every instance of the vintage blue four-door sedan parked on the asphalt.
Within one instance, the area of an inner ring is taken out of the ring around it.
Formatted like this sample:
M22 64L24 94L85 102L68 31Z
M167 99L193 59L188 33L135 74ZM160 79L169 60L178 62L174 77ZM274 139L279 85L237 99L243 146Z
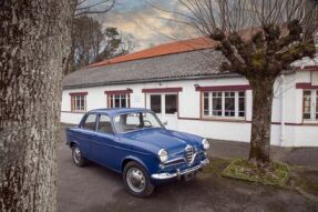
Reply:
M66 129L66 144L78 166L90 160L122 173L135 196L148 196L164 182L189 180L208 163L206 139L167 130L146 109L92 110Z

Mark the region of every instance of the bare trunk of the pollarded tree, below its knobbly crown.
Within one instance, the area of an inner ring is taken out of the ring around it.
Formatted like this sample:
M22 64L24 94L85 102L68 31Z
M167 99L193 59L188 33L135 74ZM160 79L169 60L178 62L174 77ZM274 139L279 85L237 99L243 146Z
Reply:
M250 82L253 88L253 118L249 161L266 165L270 162L270 127L274 79Z

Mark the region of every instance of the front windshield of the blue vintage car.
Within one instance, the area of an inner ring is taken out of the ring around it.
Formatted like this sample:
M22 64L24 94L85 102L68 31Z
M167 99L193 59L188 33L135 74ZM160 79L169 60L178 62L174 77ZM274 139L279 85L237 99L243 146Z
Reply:
M116 115L114 123L119 132L130 132L147 128L163 128L160 120L151 112L132 112Z

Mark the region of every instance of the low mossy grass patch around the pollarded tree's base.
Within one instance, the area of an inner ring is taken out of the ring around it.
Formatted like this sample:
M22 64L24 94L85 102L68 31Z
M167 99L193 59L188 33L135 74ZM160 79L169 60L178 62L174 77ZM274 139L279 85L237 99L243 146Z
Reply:
M284 163L273 162L271 169L264 170L249 163L245 159L232 160L222 171L223 176L258 182L266 185L285 188L290 176L289 166Z

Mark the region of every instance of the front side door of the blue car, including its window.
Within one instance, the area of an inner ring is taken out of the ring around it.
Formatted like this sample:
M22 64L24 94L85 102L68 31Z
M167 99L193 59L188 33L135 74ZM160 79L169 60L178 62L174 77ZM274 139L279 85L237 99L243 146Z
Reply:
M116 137L114 134L111 118L106 114L100 114L98 119L98 130L93 138L92 154L95 161L115 169L116 166Z

